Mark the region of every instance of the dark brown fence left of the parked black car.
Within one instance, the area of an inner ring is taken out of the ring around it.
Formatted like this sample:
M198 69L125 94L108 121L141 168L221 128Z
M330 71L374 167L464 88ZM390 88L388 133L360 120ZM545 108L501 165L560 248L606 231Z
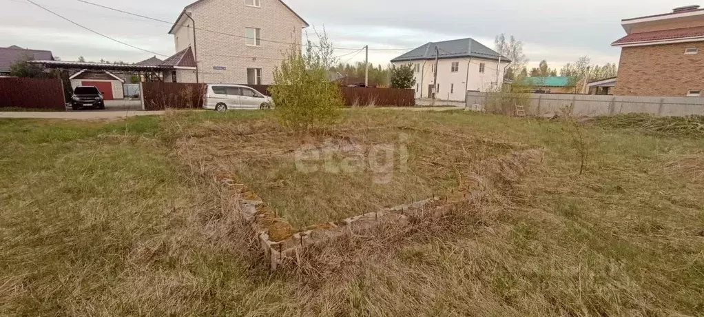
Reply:
M66 111L61 80L0 78L0 108Z

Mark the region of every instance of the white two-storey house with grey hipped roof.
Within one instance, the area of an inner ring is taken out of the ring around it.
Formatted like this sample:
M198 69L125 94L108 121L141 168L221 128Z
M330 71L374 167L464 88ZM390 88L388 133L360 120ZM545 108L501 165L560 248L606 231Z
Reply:
M436 46L438 72L437 85L433 89ZM497 82L501 85L510 61L474 39L466 38L429 42L392 59L391 63L394 66L413 65L416 98L429 98L436 92L438 99L463 101L467 91L486 92L496 87Z

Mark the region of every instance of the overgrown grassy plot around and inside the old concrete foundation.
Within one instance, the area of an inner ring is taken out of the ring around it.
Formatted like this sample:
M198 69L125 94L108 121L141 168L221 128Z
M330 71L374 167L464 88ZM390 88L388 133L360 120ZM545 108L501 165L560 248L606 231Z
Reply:
M0 316L701 316L704 140L638 122L359 110L302 142L265 112L0 120ZM401 132L410 175L385 185L291 168L301 144ZM239 173L302 226L453 190L504 143L542 166L277 273L213 182Z

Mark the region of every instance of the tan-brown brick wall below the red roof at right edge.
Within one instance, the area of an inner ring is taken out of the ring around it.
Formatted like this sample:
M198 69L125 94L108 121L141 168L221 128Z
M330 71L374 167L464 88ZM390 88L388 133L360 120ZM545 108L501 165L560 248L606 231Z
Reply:
M688 47L699 54L685 55ZM613 94L685 97L689 90L704 90L704 42L622 49Z

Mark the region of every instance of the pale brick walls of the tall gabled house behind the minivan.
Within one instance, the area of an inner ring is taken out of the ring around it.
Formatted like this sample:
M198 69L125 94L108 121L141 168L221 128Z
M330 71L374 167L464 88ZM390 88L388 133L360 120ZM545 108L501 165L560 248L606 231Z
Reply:
M196 30L201 82L246 84L247 68L261 68L262 84L272 83L273 70L281 64L284 51L290 49L291 45L262 41L260 46L246 46L245 27L260 28L261 39L300 43L305 24L281 1L260 0L260 4L256 8L246 6L244 0L209 0L189 8L199 29L241 36ZM190 25L191 22L185 19L180 23ZM177 51L191 44L191 29L177 27L174 31L175 37L179 38ZM227 69L215 70L215 66Z

